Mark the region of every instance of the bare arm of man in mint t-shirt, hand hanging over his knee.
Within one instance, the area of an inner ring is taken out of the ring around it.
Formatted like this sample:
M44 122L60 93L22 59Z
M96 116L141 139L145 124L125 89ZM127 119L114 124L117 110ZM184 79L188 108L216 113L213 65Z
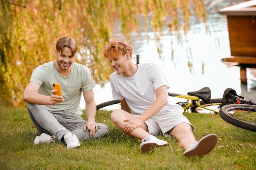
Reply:
M90 132L90 137L92 137L98 130L98 125L95 122L97 109L94 101L93 89L89 90L88 92L83 92L83 97L85 99L85 112L87 116L87 123L84 126L83 130L86 131L87 128Z

